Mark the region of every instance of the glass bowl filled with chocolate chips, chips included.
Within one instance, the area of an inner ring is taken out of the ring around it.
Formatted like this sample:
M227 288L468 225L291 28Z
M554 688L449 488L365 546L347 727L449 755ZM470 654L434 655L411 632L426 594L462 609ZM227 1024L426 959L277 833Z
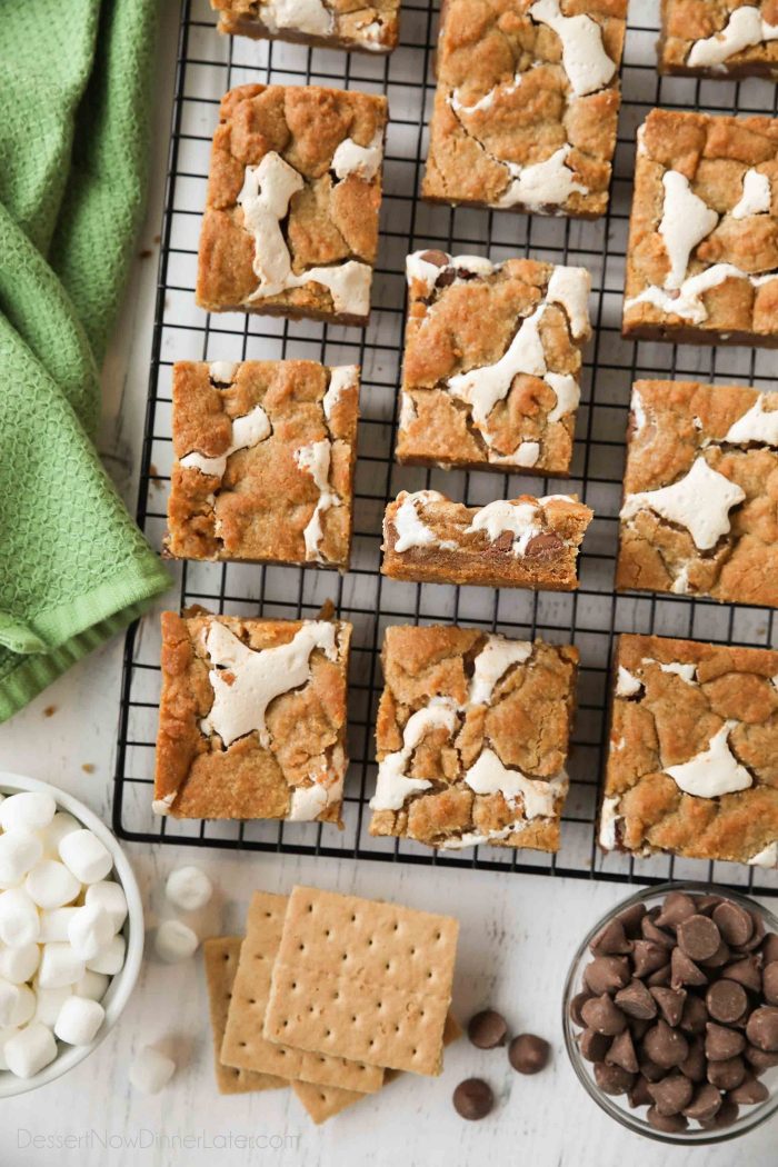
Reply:
M778 917L708 883L638 892L576 952L562 1026L581 1083L630 1130L744 1134L778 1111Z

